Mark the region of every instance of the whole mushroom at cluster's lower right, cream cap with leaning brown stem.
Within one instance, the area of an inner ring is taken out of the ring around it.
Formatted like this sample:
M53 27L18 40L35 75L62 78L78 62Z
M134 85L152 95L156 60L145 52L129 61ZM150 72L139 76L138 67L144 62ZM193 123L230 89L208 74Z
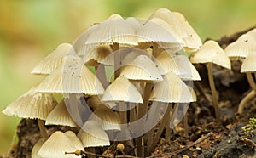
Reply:
M191 93L189 87L174 73L169 72L164 76L164 80L155 84L154 89L150 95L149 100L161 103L168 103L166 111L160 122L154 138L152 131L148 133L148 153L154 149L160 139L160 135L164 130L168 120L170 120L170 111L172 110L172 104L177 107L178 103L194 102L195 98ZM154 116L154 114L152 115ZM148 121L150 121L151 114L148 115Z

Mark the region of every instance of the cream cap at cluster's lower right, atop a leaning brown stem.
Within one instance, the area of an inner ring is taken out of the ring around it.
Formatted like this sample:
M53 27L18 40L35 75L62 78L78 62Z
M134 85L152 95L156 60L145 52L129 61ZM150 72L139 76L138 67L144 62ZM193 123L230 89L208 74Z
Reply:
M164 76L164 81L154 85L149 100L164 103L194 102L189 87L172 72L169 72Z

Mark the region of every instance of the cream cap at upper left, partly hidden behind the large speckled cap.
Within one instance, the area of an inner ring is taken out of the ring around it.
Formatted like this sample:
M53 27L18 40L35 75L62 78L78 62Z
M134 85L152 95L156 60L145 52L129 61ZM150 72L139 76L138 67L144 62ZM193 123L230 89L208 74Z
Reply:
M32 74L49 74L54 71L59 65L61 65L62 59L67 56L72 45L69 43L61 43L55 50L48 54L43 60L41 60L38 65L36 65Z

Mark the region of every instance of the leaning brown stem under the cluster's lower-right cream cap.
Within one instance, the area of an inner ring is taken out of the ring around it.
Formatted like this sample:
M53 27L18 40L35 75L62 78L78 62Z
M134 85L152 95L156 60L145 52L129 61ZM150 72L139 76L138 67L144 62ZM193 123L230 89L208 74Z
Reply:
M177 104L177 103L175 103ZM168 104L168 107L166 109L166 113L163 116L162 121L160 122L160 126L154 136L154 139L152 141L152 144L148 144L148 151L147 154L149 154L152 150L154 150L155 145L160 139L161 133L163 132L164 128L166 127L166 123L168 122L168 119L170 119L170 111L172 110L172 104Z

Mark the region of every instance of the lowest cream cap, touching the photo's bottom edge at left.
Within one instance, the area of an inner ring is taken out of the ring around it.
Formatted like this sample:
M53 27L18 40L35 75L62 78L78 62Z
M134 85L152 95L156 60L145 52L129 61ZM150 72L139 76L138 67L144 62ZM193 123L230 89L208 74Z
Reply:
M38 151L38 155L48 158L79 158L77 155L66 155L65 152L78 150L70 138L61 131L53 133Z

